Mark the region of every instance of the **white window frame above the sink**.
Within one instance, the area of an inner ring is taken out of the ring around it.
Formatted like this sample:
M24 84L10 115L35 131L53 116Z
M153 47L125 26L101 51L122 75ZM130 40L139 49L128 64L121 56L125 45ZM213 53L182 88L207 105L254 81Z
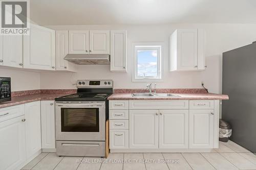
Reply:
M138 50L157 50L157 68L158 77L137 77L137 51ZM133 82L160 82L162 81L162 58L163 43L162 42L137 42L133 43Z

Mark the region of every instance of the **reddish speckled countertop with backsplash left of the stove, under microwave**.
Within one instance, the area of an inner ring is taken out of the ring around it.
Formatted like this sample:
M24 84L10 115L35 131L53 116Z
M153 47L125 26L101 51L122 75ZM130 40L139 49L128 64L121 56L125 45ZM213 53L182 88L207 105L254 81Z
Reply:
M60 96L74 93L76 93L76 90L28 90L12 92L12 100L9 102L0 103L0 108L35 101L54 100Z

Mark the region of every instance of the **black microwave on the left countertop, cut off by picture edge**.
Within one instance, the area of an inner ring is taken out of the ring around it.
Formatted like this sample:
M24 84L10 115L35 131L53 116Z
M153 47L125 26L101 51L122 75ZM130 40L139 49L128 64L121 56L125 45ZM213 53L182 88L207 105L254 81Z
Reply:
M11 78L0 77L0 103L11 101Z

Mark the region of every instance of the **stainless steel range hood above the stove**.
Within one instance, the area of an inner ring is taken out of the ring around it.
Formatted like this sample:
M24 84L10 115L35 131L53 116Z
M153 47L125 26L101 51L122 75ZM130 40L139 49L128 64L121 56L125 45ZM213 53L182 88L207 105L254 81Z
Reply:
M110 64L109 54L68 54L64 60L75 64Z

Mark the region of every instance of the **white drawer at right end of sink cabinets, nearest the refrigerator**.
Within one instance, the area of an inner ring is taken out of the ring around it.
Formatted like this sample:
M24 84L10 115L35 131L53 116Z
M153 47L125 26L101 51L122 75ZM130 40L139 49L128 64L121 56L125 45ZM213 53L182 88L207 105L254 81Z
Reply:
M189 109L214 109L213 100L189 101Z

